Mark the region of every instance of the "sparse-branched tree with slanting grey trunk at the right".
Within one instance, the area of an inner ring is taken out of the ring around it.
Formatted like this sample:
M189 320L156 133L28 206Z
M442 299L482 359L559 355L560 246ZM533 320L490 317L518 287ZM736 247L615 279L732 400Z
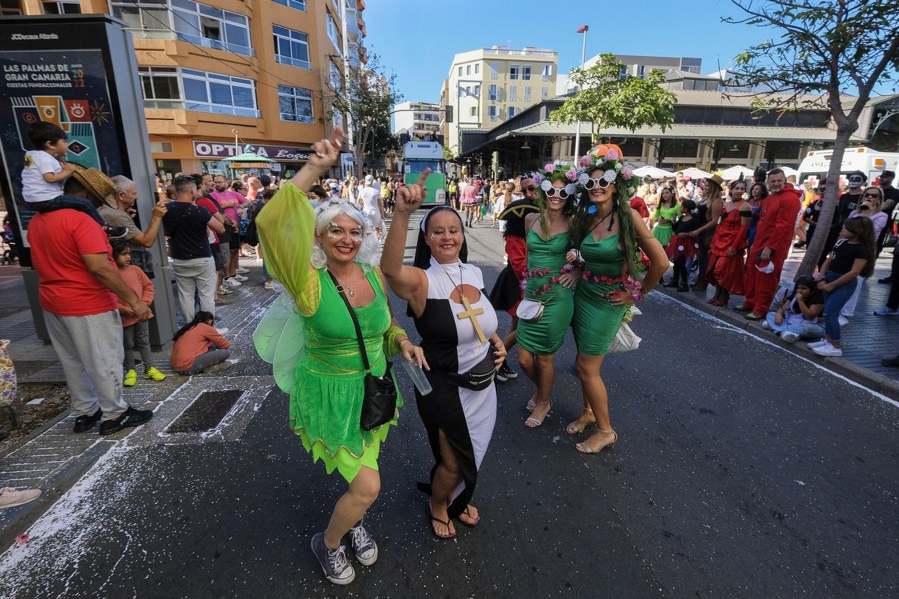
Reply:
M797 110L826 102L836 133L828 181L838 181L850 136L878 84L897 80L899 4L895 0L732 0L743 11L729 23L774 31L776 37L736 57L734 84L757 92L755 108ZM841 95L842 91L857 96ZM836 185L824 191L816 231L797 277L814 272L838 201Z

